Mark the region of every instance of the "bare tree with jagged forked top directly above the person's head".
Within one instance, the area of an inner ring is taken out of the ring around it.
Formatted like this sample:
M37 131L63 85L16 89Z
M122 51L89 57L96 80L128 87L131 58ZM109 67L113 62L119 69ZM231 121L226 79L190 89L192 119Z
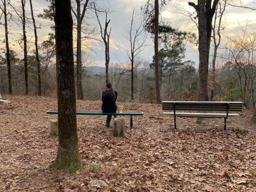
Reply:
M110 27L110 30L108 32L108 25L109 25L110 19L108 20L108 13L105 11L105 14L106 14L105 27L102 28L99 17L98 17L98 13L97 13L98 10L95 7L95 3L93 3L93 6L94 6L96 17L97 17L98 22L99 22L101 38L102 38L102 40L104 42L104 45L105 45L106 83L108 83L109 82L108 67L109 67L109 60L110 60L110 58L109 58L109 36L110 36L110 33L111 33L111 27Z

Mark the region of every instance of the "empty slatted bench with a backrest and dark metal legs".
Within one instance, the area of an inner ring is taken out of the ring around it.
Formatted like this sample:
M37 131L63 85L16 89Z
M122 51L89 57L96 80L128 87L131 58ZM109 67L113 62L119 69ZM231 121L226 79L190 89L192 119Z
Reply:
M176 117L204 117L204 118L224 118L224 130L227 129L226 123L228 117L237 117L238 114L229 113L242 111L243 102L214 102L214 101L163 101L164 115L174 116L174 129L176 126ZM177 113L176 111L188 111ZM225 111L226 113L190 113L189 111Z

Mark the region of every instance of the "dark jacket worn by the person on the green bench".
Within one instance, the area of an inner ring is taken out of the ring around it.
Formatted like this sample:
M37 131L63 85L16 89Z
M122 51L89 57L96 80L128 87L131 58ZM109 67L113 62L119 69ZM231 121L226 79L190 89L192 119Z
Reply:
M101 110L104 113L114 113L117 109L116 106L116 99L115 101L111 101L111 95L110 94L104 94L105 91L102 92L102 106ZM117 98L117 92L115 91L116 98Z

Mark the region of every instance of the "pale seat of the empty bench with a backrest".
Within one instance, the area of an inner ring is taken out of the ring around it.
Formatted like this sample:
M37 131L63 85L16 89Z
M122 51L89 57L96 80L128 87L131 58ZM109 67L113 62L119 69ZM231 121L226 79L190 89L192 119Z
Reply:
M174 116L174 113L164 112L164 115ZM225 118L227 114L211 114L211 113L175 113L177 117L212 117L212 118ZM228 117L239 117L238 114L228 114Z

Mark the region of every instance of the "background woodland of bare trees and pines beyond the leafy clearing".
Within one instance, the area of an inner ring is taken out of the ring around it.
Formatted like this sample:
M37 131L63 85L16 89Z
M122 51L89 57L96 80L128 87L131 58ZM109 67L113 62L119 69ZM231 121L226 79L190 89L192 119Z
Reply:
M143 19L139 25L133 23L134 12L139 11L139 7L133 7L130 23L127 25L125 38L131 43L127 49L129 62L122 63L109 59L109 36L111 36L111 30L115 28L115 26L108 26L111 24L108 15L113 12L111 7L101 7L97 1L71 2L74 22L77 99L100 100L101 93L105 89L105 82L110 81L119 92L119 101L155 103L155 56L148 55L148 58L152 58L152 62L140 57L143 47L146 46L145 38L147 38L148 30ZM1 24L5 26L5 32L8 25L17 26L25 32L23 35L20 34L21 36L16 42L23 50L23 55L11 49L7 55L5 48L1 50L0 92L56 97L54 1L49 1L49 9L45 9L43 13L35 16L32 3L33 1L25 0L17 3L8 0L2 1ZM161 4L161 6L170 5ZM209 99L212 101L243 101L246 108L254 109L256 34L247 30L247 25L249 25L247 22L239 26L235 36L224 35L225 27L221 23L221 18L225 14L227 6L232 5L226 0L219 1L213 17L209 73L207 75ZM195 13L184 11L181 13L187 14L194 22L197 22L197 18L193 17ZM4 19L4 15L6 19ZM40 30L39 18L48 20L52 28L49 39L41 43L37 43L35 33ZM98 22L89 25L87 21L90 18L98 18ZM161 28L161 26L164 27ZM158 62L162 100L198 100L198 63L185 58L185 45L188 42L197 44L196 35L182 31L177 36L177 31L174 31L164 21L160 22L159 27ZM27 37L27 30L33 31L29 37ZM6 34L9 38L12 36L12 33L8 31ZM6 34L2 39L5 44L8 42ZM220 46L220 42L224 38L225 42L223 40L224 43ZM105 65L108 69L106 73L94 73L92 66L97 55L93 55L93 50L81 49L82 45L87 44L89 47L91 39L101 41L106 48Z

